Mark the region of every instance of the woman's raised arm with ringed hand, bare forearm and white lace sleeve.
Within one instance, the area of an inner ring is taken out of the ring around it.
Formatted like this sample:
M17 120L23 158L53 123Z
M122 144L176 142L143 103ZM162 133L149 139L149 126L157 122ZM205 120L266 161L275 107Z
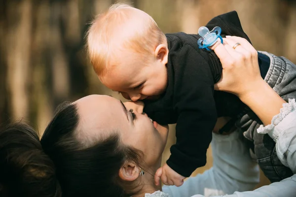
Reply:
M290 158L289 163L287 155L289 153L290 157L294 156L293 148L296 146L293 144L296 143L295 100L286 103L261 78L257 51L247 40L231 36L227 37L224 43L217 43L213 47L223 67L222 79L215 88L237 95L259 116L267 126L261 126L258 132L268 133L274 139L279 159L295 173L296 158ZM235 43L241 44L233 49L231 46Z

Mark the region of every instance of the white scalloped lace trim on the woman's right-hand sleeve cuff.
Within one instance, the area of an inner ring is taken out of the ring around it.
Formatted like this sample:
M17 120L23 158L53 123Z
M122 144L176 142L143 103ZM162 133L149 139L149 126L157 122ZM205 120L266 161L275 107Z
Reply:
M263 125L260 125L260 127L257 129L257 132L261 134L266 134L269 131L272 131L275 126L277 126L289 113L294 110L296 110L295 99L289 99L288 103L283 104L283 108L281 108L280 113L272 118L271 124L265 127Z

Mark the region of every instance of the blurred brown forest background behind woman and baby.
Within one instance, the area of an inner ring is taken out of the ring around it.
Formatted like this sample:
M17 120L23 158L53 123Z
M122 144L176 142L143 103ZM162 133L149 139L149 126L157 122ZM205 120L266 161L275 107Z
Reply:
M84 51L89 23L116 0L0 0L0 124L23 118L42 134L55 107L103 87ZM129 2L128 0L125 2ZM165 33L197 33L211 18L236 10L257 50L296 63L295 0L133 0ZM164 154L175 141L174 127ZM211 151L208 164L212 165ZM264 176L259 185L267 184Z

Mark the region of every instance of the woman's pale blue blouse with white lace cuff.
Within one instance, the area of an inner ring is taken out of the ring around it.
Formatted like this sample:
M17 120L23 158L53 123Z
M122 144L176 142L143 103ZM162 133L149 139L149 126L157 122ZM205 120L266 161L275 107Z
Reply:
M272 124L260 126L259 133L268 133L276 142L281 162L296 171L296 102L289 99ZM296 174L268 186L253 190L259 183L259 167L250 152L241 143L238 132L230 135L213 133L213 167L203 174L191 177L181 187L164 186L163 192L145 197L296 197ZM234 193L234 194L233 194Z

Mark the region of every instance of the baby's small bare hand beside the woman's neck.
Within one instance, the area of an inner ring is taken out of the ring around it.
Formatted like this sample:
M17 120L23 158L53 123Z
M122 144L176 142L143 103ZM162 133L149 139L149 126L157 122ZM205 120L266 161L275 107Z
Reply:
M186 177L178 174L175 170L170 168L168 164L164 164L155 172L154 182L159 185L159 180L165 185L175 185L177 187L183 185Z

